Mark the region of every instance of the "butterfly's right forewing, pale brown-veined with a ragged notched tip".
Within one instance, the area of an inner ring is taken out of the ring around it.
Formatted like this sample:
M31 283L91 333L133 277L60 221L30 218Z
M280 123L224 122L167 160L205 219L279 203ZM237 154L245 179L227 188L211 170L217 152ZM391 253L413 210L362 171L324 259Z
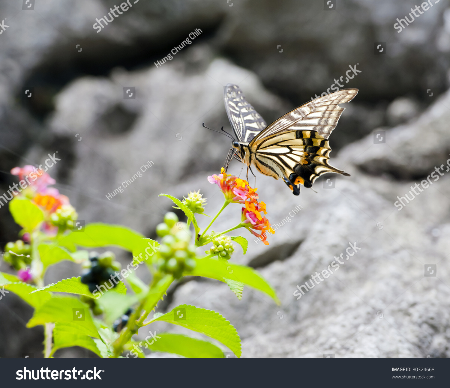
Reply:
M253 138L250 146L253 144L257 146L257 143L267 136L295 130L315 131L328 139L344 110L338 104L348 103L357 93L358 89L342 89L324 97L315 98L275 120Z

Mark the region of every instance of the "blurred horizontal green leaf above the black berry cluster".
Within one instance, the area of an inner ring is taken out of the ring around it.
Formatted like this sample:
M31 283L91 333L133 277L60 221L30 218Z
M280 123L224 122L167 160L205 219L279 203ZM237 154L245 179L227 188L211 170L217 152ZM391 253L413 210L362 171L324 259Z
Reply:
M59 241L59 245L69 249L73 244L88 248L114 245L125 250L133 251L133 247L144 236L132 229L120 225L105 223L90 223L83 232L71 232Z

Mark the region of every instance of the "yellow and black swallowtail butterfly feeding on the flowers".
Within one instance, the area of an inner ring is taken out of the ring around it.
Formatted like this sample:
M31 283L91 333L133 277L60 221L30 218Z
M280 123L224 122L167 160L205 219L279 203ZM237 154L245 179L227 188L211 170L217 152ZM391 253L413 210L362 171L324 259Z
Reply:
M267 125L247 102L238 85L224 86L225 109L237 141L233 138L227 161L238 158L253 174L252 165L275 179L282 178L294 195L300 185L311 187L320 175L346 172L329 165L328 138L338 124L344 108L358 89L342 89L295 108Z

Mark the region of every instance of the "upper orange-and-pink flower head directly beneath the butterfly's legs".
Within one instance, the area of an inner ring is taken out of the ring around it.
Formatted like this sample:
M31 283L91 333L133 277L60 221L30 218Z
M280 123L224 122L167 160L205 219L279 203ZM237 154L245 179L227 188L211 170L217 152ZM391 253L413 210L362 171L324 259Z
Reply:
M250 187L247 181L235 177L234 175L225 174L225 169L222 167L219 175L212 175L208 177L209 183L216 183L220 191L224 193L225 199L230 203L243 204L249 200L256 201L258 194L257 189Z

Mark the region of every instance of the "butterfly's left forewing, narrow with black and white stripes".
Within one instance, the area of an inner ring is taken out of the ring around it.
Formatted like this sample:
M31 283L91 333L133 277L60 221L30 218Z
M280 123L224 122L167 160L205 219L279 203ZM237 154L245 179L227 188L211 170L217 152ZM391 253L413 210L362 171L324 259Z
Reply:
M229 122L239 143L248 143L266 128L266 121L250 105L238 85L224 86L224 102Z

